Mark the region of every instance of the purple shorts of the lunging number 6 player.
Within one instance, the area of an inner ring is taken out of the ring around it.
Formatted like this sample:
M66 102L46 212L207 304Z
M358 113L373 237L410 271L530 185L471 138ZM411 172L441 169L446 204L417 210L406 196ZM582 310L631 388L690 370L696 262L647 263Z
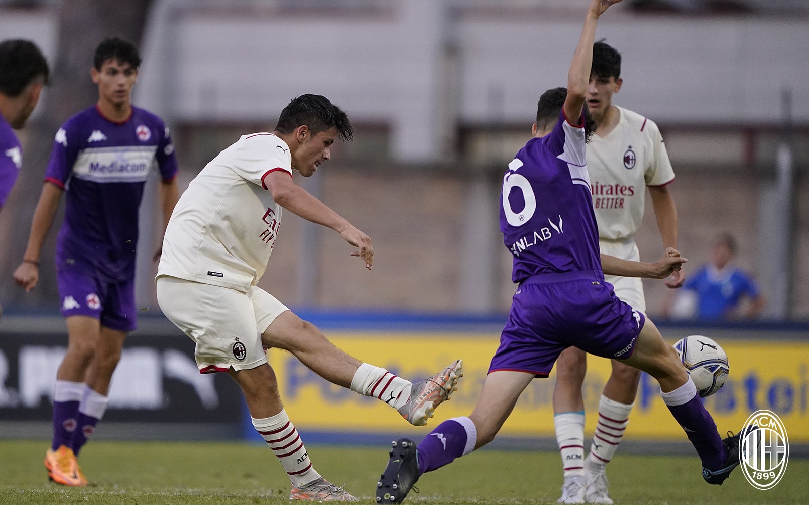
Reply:
M571 346L625 360L644 322L642 313L615 296L600 271L534 276L517 288L489 373L548 377L561 351Z

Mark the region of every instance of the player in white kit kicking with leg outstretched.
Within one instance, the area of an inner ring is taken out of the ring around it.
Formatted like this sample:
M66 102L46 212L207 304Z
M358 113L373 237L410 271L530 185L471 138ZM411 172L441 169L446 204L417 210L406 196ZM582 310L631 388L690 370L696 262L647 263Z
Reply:
M290 351L320 377L379 398L417 426L463 376L460 360L415 384L361 363L256 285L283 209L337 231L371 269L371 238L292 179L293 170L314 174L331 158L332 143L352 136L348 116L328 99L293 99L273 133L242 136L188 185L169 221L158 267L160 308L197 344L201 373L228 372L239 384L253 426L290 477L290 499L356 501L312 465L282 405L266 348Z

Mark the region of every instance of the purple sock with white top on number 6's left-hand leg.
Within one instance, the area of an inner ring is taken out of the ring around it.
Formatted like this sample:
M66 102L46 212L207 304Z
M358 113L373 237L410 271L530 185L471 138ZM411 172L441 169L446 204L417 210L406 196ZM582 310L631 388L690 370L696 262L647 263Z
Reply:
M472 452L477 431L468 417L453 418L439 424L417 446L418 474L448 465L456 457Z

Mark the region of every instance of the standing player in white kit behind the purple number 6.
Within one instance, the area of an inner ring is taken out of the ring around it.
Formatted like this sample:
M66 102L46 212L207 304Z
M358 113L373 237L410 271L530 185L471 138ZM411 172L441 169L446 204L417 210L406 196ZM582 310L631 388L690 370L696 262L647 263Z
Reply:
M637 112L612 103L621 90L621 53L599 41L593 44L593 65L587 90L587 106L597 128L587 147L587 171L599 246L606 255L638 261L634 235L640 227L646 188L663 247L677 248L677 211L668 184L674 170L657 124ZM646 314L643 286L637 277L606 276L615 294L633 309ZM684 271L667 280L680 288ZM584 402L582 383L587 370L584 351L569 347L557 360L553 389L553 421L564 471L558 503L612 503L605 466L624 436L632 410L640 371L612 360L612 375L599 401L599 421L584 458Z

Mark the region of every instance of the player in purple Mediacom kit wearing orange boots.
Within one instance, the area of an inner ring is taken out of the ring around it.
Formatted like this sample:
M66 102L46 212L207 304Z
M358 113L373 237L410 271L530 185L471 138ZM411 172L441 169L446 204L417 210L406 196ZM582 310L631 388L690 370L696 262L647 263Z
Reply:
M68 347L57 370L53 441L44 461L48 477L65 486L87 485L76 456L104 415L112 372L136 326L138 207L153 166L162 179L164 225L178 199L168 128L131 103L140 63L138 49L125 40L106 39L96 48L90 73L98 102L56 133L28 247L14 273L26 291L36 287L42 246L66 192L56 268Z

